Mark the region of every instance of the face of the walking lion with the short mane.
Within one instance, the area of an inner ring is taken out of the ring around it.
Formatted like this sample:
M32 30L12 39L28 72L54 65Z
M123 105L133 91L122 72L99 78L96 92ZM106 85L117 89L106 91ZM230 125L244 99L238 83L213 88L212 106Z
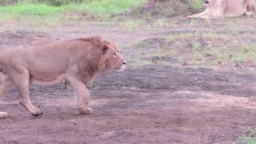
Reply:
M120 54L118 46L114 43L107 43L102 47L105 54L105 66L108 70L117 70L121 72L126 68L126 60Z

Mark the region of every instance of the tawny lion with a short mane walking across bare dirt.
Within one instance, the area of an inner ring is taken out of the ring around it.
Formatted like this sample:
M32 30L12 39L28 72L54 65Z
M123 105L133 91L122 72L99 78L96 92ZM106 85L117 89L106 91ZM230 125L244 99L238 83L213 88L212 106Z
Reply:
M33 116L41 115L42 110L30 102L30 83L47 85L63 80L77 95L78 111L92 114L86 86L106 71L124 70L126 61L114 43L93 37L2 50L0 66L0 96L16 86L20 104ZM0 118L7 116L0 112Z

